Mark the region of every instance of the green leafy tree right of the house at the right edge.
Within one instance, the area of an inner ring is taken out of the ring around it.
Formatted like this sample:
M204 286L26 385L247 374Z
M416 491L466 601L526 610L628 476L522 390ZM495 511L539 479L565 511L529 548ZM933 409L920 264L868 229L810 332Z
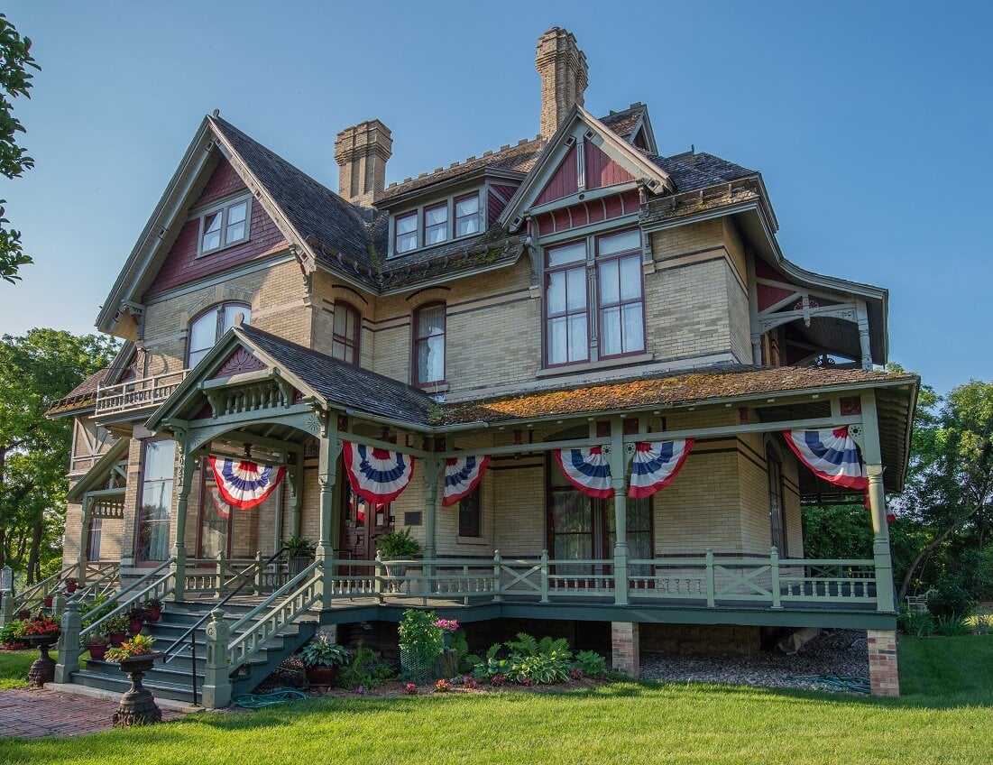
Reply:
M993 518L993 383L971 381L943 399L922 388L900 506L923 532L903 575L903 601L922 563L956 536L978 532L982 551Z

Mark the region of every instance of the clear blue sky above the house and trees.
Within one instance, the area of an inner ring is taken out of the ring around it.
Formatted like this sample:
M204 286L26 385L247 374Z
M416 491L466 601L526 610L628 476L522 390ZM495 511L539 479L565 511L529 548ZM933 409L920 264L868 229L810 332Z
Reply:
M387 181L538 130L537 37L575 33L596 114L648 104L659 150L762 171L780 244L890 290L891 360L993 380L993 3L39 2L37 167L0 179L36 264L0 333L92 331L204 114L337 189L335 134L379 118Z

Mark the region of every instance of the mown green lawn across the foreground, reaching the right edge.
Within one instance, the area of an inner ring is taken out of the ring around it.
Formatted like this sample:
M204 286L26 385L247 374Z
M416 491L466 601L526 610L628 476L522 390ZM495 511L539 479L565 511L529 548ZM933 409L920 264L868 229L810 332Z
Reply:
M928 669L934 658L940 671ZM901 660L899 700L647 683L324 699L69 740L0 739L0 762L989 762L993 638L905 639Z

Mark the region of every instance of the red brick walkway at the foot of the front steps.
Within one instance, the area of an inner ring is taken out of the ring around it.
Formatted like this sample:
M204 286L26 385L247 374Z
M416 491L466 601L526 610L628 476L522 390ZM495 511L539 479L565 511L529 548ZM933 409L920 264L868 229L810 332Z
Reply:
M110 718L116 709L116 700L64 690L0 690L0 736L39 738L95 733L113 727ZM180 712L162 709L163 720L179 716Z

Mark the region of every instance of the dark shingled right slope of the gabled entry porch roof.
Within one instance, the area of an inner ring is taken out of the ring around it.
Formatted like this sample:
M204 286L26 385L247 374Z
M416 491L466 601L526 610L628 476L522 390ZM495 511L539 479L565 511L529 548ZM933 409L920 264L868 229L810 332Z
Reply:
M434 399L423 390L244 325L239 332L329 402L427 425Z

